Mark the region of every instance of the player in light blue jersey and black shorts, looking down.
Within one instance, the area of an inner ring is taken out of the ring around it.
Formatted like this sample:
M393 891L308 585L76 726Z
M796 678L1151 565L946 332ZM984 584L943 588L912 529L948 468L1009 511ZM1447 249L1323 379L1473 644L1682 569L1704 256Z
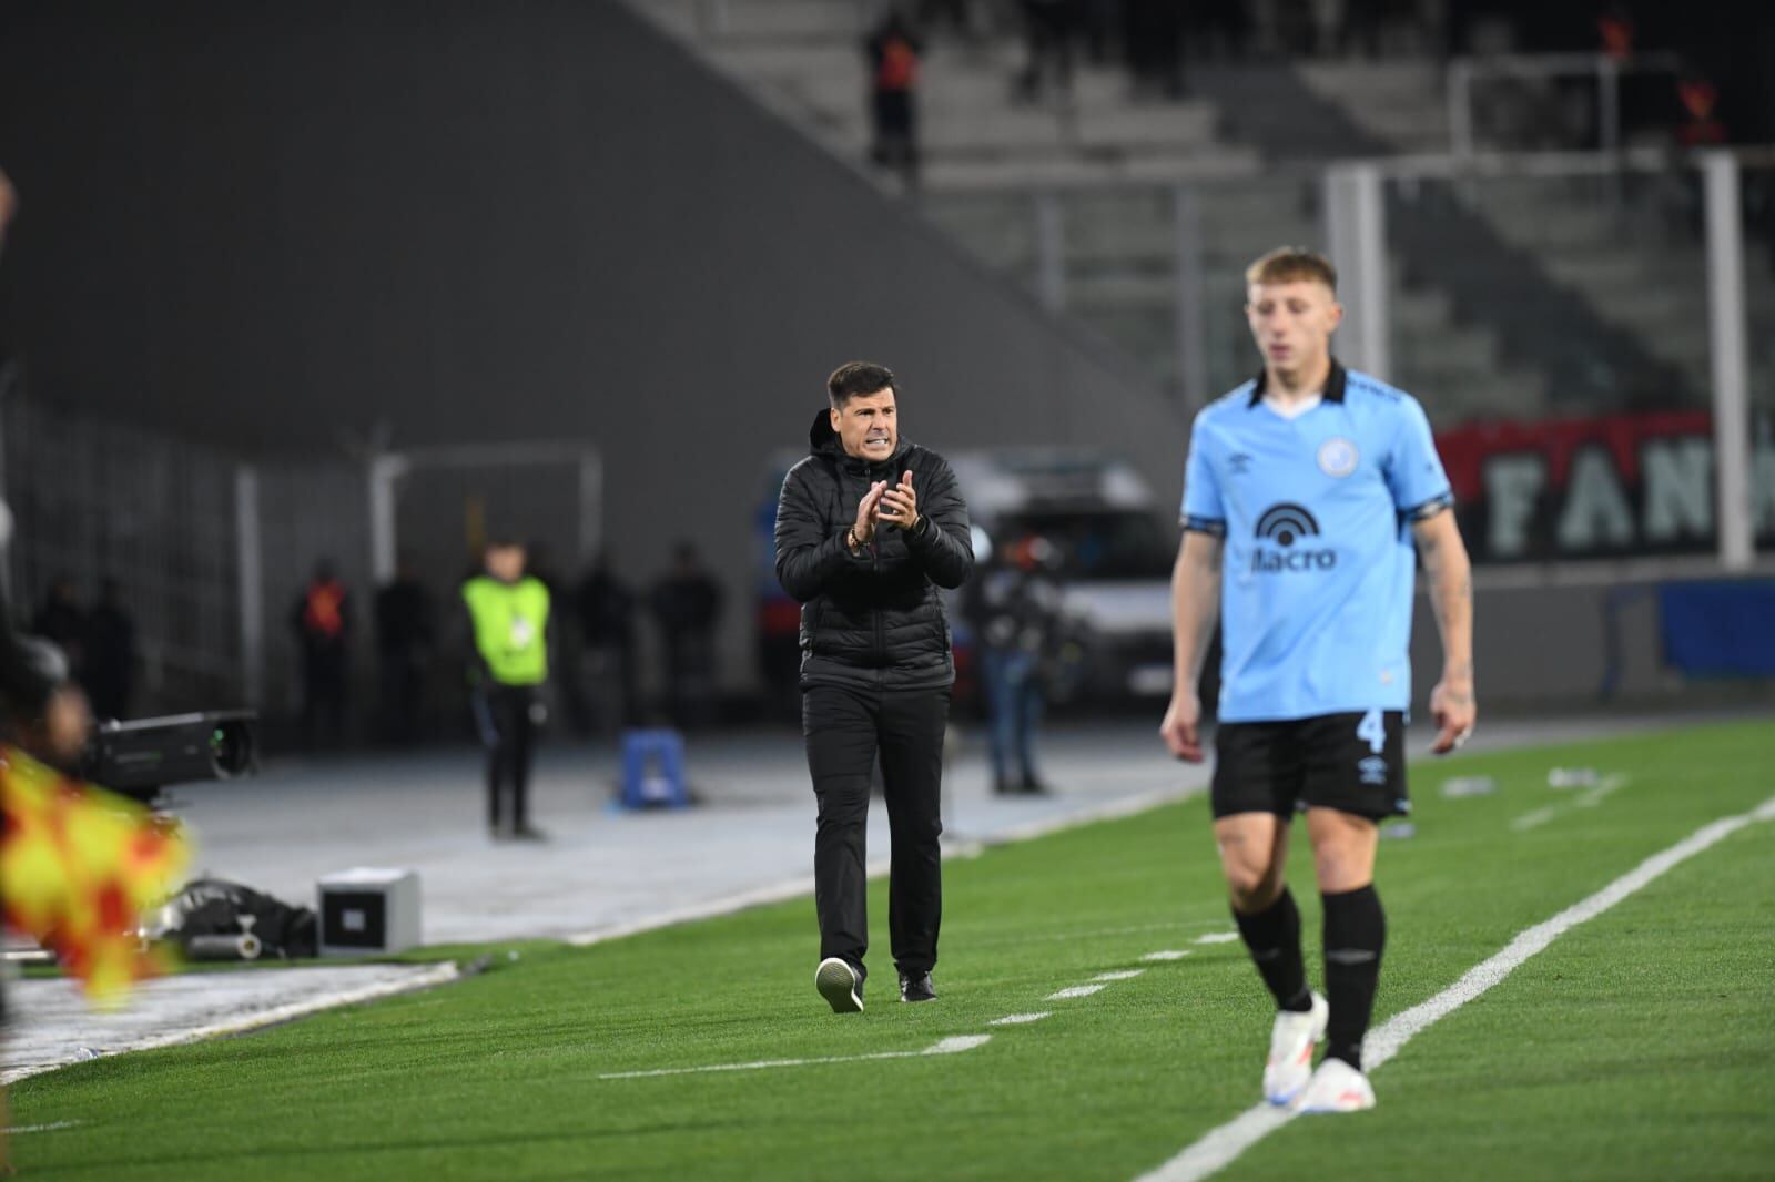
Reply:
M1344 314L1331 263L1273 250L1246 282L1264 371L1195 421L1172 577L1177 685L1159 729L1175 756L1202 760L1196 676L1223 616L1214 841L1280 1010L1264 1097L1349 1113L1374 1107L1361 1040L1386 937L1377 823L1411 808L1413 547L1443 646L1429 697L1438 754L1473 729L1471 568L1424 408L1331 357ZM1296 811L1324 903L1326 996L1306 983L1283 877Z

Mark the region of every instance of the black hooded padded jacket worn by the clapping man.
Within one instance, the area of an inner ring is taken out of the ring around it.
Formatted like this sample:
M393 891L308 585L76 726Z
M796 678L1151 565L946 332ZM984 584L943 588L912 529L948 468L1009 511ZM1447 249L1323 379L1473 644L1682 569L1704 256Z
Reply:
M950 621L939 587L974 570L967 506L937 453L900 440L893 458L845 454L827 412L808 431L813 454L790 469L777 502L777 582L801 602L801 683L877 690L944 689L955 682ZM845 532L872 481L912 470L923 520L879 527L852 557Z

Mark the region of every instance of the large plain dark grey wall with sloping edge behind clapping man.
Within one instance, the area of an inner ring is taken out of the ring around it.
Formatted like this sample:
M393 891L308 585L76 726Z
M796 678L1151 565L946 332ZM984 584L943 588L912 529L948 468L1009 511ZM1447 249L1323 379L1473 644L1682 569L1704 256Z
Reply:
M1145 376L607 0L16 0L0 167L34 398L284 458L591 440L625 568L724 573L730 680L761 463L841 360L937 449L1182 483Z

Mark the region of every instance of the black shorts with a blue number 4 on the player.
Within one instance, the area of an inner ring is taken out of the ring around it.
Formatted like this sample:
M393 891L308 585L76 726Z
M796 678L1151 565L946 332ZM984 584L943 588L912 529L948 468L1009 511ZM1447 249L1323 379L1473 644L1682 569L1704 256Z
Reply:
M1411 811L1399 710L1223 722L1214 735L1214 816L1326 808L1369 820Z

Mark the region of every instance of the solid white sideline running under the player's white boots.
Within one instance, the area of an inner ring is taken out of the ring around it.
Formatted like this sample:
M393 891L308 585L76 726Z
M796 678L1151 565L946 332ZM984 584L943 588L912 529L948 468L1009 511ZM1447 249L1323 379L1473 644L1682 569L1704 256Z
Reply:
M1431 1024L1448 1017L1468 1001L1473 1001L1493 985L1498 985L1525 960L1546 950L1555 939L1571 928L1594 919L1621 900L1628 898L1665 871L1681 866L1688 859L1718 845L1740 829L1755 822L1775 820L1775 797L1770 797L1750 813L1724 816L1709 825L1702 825L1683 841L1677 841L1661 854L1653 854L1644 863L1621 875L1590 898L1573 903L1551 919L1544 919L1532 928L1516 934L1502 951L1493 953L1480 964L1468 969L1459 981L1441 990L1429 1001L1418 1003L1402 1013L1395 1013L1377 1029L1369 1031L1363 1042L1363 1061L1372 1072L1411 1042ZM1244 1150L1251 1148L1266 1136L1294 1120L1294 1113L1269 1104L1257 1104L1227 1122L1211 1129L1195 1145L1170 1159L1157 1170L1143 1173L1140 1182L1196 1182L1234 1162Z

